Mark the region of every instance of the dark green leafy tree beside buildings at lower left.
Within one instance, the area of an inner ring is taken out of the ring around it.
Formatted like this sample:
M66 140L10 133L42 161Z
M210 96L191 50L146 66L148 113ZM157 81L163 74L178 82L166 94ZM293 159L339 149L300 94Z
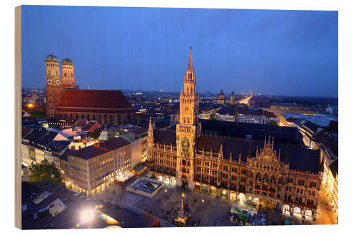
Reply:
M47 159L40 163L30 164L30 181L54 183L62 186L63 181L61 180L60 171L56 168L54 162L49 163Z

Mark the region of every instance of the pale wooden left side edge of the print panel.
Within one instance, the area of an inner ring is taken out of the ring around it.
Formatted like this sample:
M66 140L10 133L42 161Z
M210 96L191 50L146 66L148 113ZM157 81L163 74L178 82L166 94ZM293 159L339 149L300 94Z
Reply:
M21 87L22 87L22 56L21 56L21 6L15 7L15 227L22 227L22 205L21 205Z

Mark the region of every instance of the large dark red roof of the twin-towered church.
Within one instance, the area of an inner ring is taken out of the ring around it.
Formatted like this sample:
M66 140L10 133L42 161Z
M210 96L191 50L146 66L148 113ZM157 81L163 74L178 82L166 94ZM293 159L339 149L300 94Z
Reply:
M69 89L63 94L58 112L72 110L66 110L66 107L78 109L132 109L130 102L120 90Z

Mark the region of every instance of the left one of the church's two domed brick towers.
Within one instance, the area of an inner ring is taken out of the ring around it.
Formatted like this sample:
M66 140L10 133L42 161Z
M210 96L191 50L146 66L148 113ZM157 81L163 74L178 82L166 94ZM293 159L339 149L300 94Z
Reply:
M56 109L61 102L63 88L58 68L58 57L49 54L45 57L46 64L46 116L55 116Z

